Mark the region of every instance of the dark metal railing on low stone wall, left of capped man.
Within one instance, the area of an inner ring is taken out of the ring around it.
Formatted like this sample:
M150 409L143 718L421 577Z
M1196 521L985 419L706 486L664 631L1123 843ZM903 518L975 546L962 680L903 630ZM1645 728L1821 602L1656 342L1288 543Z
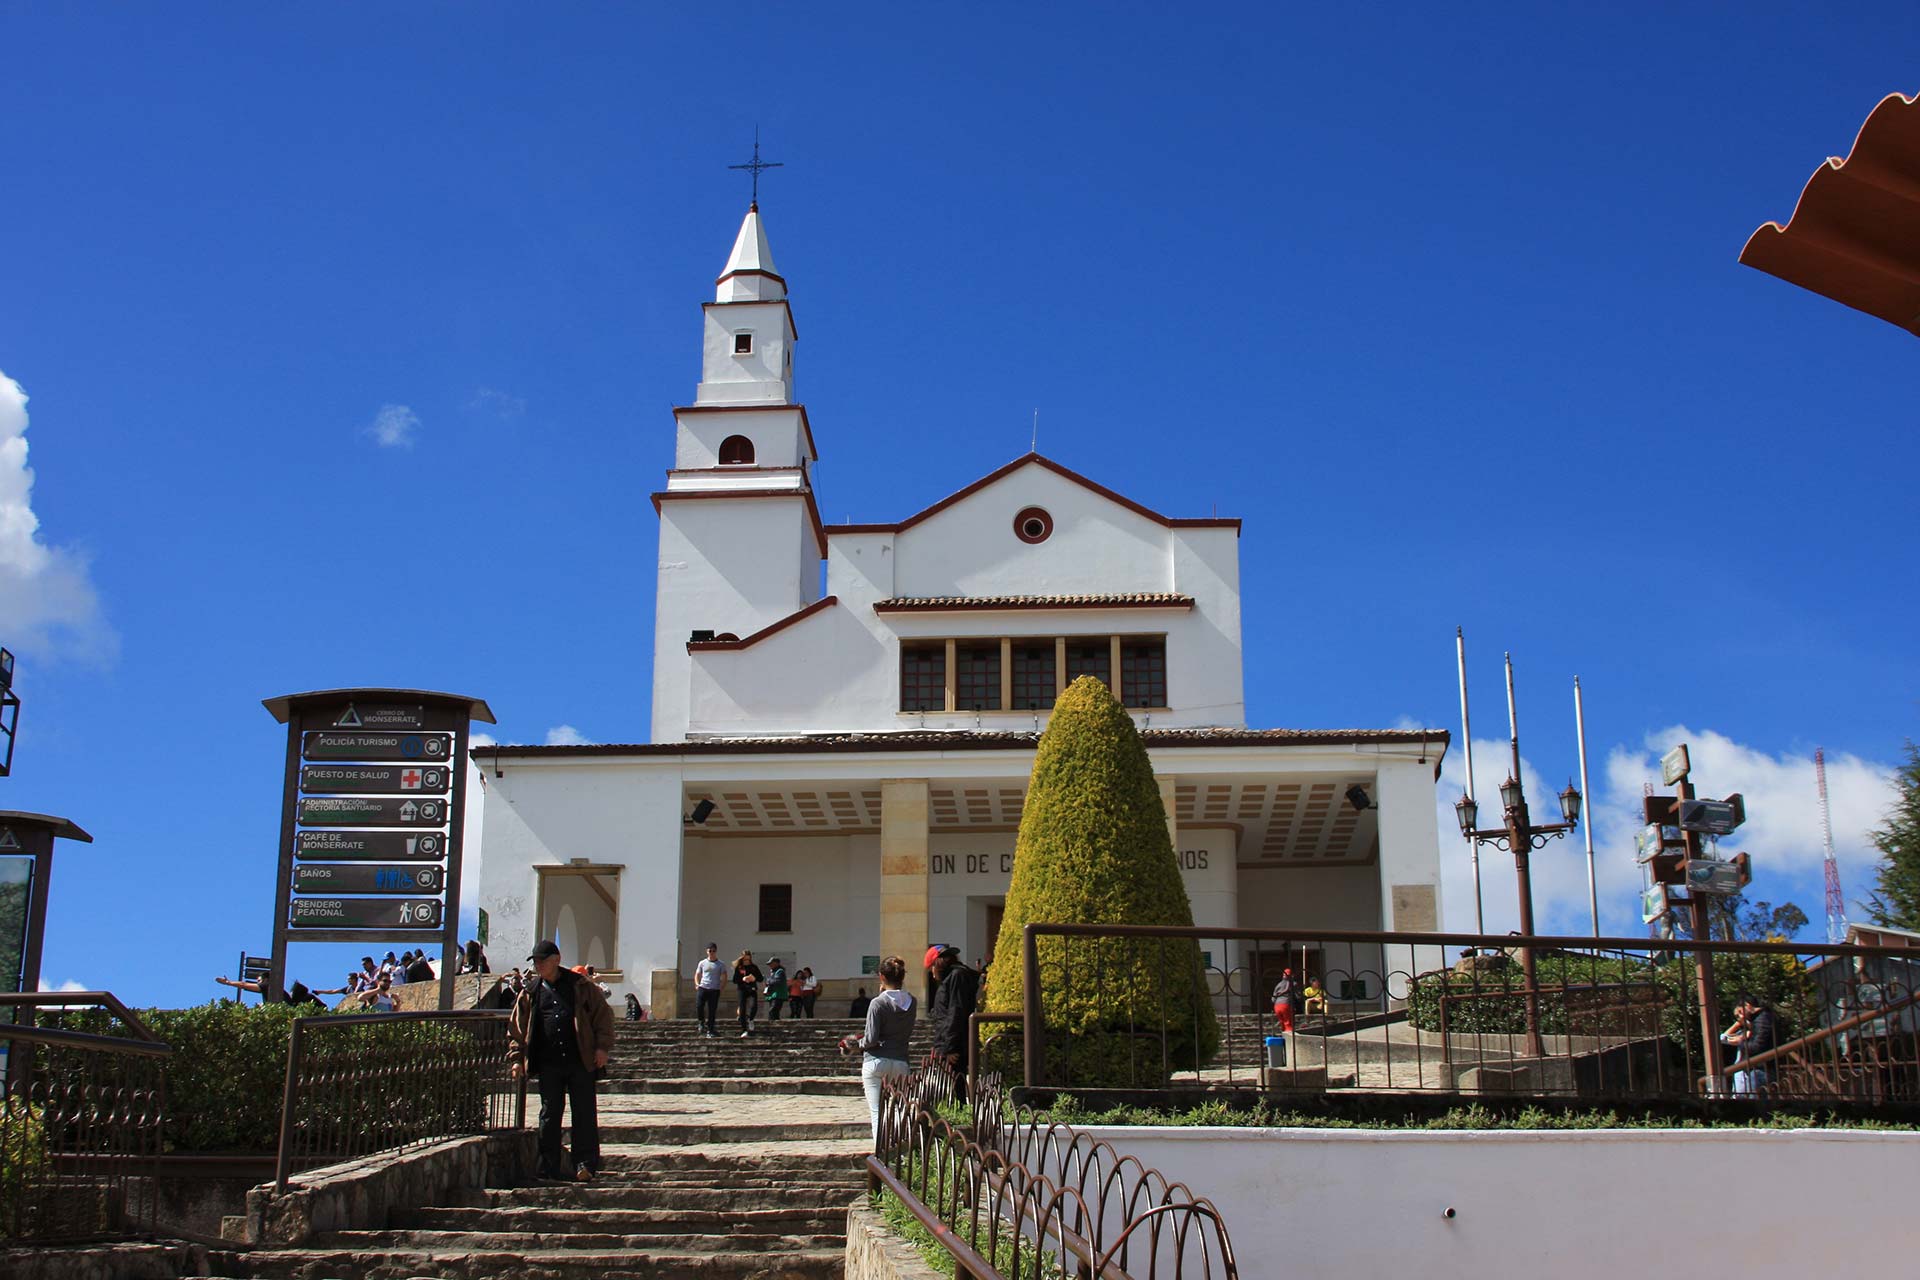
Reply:
M501 1011L298 1017L275 1182L284 1192L300 1169L524 1126Z

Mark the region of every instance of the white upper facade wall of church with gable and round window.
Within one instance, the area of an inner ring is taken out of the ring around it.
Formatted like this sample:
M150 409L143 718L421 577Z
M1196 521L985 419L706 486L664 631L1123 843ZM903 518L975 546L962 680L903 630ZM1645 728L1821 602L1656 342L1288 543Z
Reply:
M1054 535L1044 543L1029 545L1014 535L1014 514L1027 505L1044 505L1054 516ZM664 528L660 537L664 566L670 558ZM685 555L676 551L674 558L697 578L712 572L718 558L735 562L739 547L732 539L760 533L703 526L693 537L699 547L687 547ZM707 553L708 541L728 551ZM699 568L703 553L708 557L707 570ZM660 581L664 589L664 568ZM876 601L891 597L1116 591L1181 591L1196 603L1192 610L874 612ZM1246 723L1235 532L1167 530L1044 466L1016 470L902 533L831 537L828 593L839 601L837 616L810 618L753 649L695 654L687 731L1044 727L1044 712L900 714L900 641L968 635L1165 635L1171 708L1152 712L1152 723ZM674 631L684 643L684 629ZM659 635L666 637L664 626ZM666 679L664 662L659 670ZM662 689L655 697L670 700L672 691ZM1146 720L1144 712L1140 720ZM655 723L659 737L666 722L657 718Z

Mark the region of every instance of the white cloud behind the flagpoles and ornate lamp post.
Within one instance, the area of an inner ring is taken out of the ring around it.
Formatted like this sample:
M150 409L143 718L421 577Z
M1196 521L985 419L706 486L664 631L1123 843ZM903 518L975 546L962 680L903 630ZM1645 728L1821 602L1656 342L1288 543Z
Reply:
M1736 743L1713 729L1672 725L1649 731L1638 747L1617 745L1603 756L1590 756L1594 793L1586 796L1582 821L1594 823L1594 879L1599 898L1599 927L1605 935L1640 935L1642 871L1634 862L1634 837L1644 825L1642 796L1645 783L1659 783L1659 758L1674 743L1688 743L1695 789L1707 796L1740 793L1745 796L1747 821L1726 837L1724 852L1753 856L1757 896L1780 902L1797 892L1786 881L1818 885L1822 864L1820 796L1814 787L1812 750L1770 754L1757 747ZM1588 745L1590 752L1594 745ZM1475 798L1480 802L1480 827L1500 823L1500 783L1507 777L1509 747L1503 741L1473 743ZM1578 771L1572 750L1567 764ZM1567 785L1567 770L1542 775L1530 758L1521 758L1521 781L1534 821L1559 821L1557 794ZM1878 854L1866 842L1866 831L1880 823L1893 802L1893 766L1860 760L1859 756L1828 756L1826 785L1834 810L1834 844L1851 904L1864 896L1872 883ZM1459 745L1448 752L1438 789L1440 808L1440 869L1446 927L1473 929L1473 860L1467 841L1459 837L1453 802L1465 785L1465 752ZM1578 781L1578 779L1574 779ZM1659 787L1659 791L1667 791ZM1586 887L1586 839L1572 831L1546 848L1534 850L1528 869L1534 892L1534 927L1542 933L1582 935L1592 931ZM1486 931L1507 933L1519 921L1519 890L1513 854L1480 848L1480 885L1486 908ZM1820 900L1801 894L1799 906L1814 919ZM1812 929L1811 933L1818 933Z

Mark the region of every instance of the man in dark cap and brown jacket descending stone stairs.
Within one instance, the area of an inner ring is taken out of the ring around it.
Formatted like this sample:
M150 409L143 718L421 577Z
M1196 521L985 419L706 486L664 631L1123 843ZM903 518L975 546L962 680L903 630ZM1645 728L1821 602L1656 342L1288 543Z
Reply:
M563 1178L561 1109L574 1115L574 1178L591 1182L599 1173L599 1102L595 1073L612 1050L612 1006L605 992L561 963L551 940L534 944L534 983L513 1002L507 1036L513 1079L532 1067L540 1082L540 1176Z

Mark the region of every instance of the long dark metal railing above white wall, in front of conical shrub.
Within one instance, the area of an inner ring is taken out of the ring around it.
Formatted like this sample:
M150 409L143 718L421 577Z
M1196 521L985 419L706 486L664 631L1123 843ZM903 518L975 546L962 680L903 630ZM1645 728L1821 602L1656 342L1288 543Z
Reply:
M1020 963L979 1057L1031 1088L1920 1103L1920 948L1029 925Z

